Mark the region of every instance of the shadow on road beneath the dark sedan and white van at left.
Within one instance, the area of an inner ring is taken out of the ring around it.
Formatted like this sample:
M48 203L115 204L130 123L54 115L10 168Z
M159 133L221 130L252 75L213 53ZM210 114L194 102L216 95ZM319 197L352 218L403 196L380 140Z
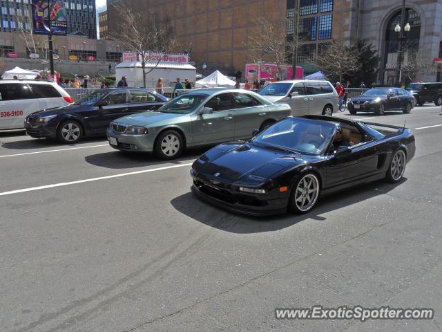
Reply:
M17 140L15 142L4 142L1 147L5 149L28 150L28 149L44 149L46 147L57 147L59 149L68 149L70 147L81 147L84 144L107 144L107 140L103 138L84 138L77 144L63 144L57 140L50 138L30 138L29 140Z

